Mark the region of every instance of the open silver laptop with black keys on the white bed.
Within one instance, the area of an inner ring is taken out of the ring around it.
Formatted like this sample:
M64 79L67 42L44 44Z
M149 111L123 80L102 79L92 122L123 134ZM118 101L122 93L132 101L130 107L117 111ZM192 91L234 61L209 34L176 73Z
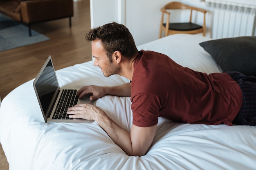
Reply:
M51 56L48 57L36 76L33 86L46 123L93 122L91 120L71 119L68 117L66 111L69 107L78 103L90 103L95 105L95 101L90 100L92 94L87 94L83 96L82 99L79 99L76 96L76 91L79 89L63 89L59 87Z

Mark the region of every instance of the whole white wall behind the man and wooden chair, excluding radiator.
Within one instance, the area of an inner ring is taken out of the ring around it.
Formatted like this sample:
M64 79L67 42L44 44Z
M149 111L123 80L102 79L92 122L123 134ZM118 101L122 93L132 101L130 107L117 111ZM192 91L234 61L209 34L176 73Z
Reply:
M161 12L160 9L172 0L90 0L91 27L109 22L124 24L132 33L137 46L158 39ZM173 0L174 1L174 0ZM207 9L202 0L175 0ZM226 0L241 3L240 0ZM243 0L243 3L256 4L256 0ZM172 13L173 14L173 13ZM183 21L184 15L175 15L174 20ZM173 15L172 15L173 16ZM194 20L202 24L203 15ZM172 20L173 21L173 20ZM254 31L256 32L256 31ZM209 37L210 34L207 34Z

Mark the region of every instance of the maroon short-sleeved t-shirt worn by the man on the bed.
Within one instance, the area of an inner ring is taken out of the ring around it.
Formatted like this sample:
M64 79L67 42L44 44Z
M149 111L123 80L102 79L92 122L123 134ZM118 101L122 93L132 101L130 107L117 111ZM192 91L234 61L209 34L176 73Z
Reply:
M195 72L153 51L139 51L131 85L133 124L140 127L157 124L158 117L231 126L243 102L228 74Z

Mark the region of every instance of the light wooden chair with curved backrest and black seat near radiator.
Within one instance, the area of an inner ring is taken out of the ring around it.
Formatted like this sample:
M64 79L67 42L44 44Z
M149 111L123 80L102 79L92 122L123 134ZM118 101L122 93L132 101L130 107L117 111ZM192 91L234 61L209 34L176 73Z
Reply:
M189 22L184 23L169 23L170 19L170 12L167 10L169 9L190 9L190 18ZM194 24L191 22L192 20L192 11L199 11L204 13L204 20L203 20L203 26L200 26L198 24ZM189 5L180 3L180 2L170 2L166 4L163 8L161 8L162 12L162 18L161 18L161 24L160 24L160 31L159 31L159 38L162 37L162 31L164 31L165 36L172 35L172 34L178 34L178 33L186 33L186 34L198 34L202 33L203 36L205 36L206 26L205 26L205 13L207 12L204 9L191 7ZM164 14L167 15L166 17L166 24L164 23Z

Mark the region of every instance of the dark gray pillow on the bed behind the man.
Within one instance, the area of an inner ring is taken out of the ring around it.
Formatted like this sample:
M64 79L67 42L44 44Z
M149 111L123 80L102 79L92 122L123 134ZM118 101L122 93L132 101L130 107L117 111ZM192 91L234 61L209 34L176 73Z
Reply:
M256 76L256 37L235 37L199 44L220 65L223 72L237 71Z

